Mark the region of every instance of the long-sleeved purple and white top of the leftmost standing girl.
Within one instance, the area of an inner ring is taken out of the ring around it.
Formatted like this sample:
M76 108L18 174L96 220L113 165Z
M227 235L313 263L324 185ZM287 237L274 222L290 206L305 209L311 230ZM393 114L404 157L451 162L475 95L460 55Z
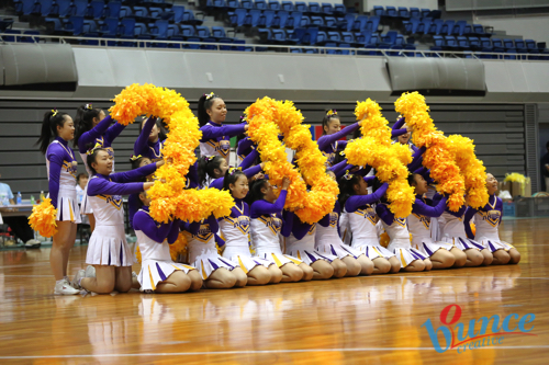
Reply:
M77 164L75 152L68 146L68 141L60 137L56 137L55 140L58 141L58 144L49 144L46 150L46 159L49 162L49 198L52 198L52 205L57 208L59 186L64 185L75 187L76 185Z

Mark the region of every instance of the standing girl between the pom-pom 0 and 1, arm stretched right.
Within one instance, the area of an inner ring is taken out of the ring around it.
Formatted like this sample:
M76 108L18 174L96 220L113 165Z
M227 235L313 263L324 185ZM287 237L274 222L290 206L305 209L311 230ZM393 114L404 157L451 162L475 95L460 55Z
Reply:
M346 140L338 140L350 135L361 125L361 122L354 123L341 129L341 121L336 111L328 111L322 119L322 137L318 138L318 149L326 156L326 163L334 164L334 159L338 151L345 149Z

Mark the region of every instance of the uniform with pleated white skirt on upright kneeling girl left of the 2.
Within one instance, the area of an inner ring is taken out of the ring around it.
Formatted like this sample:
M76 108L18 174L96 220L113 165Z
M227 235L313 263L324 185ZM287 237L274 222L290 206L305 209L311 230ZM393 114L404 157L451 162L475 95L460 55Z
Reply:
M88 184L88 198L96 217L96 229L88 244L86 263L90 265L132 266L134 256L124 231L122 195L143 192L134 182L156 171L156 163L128 172L96 174Z

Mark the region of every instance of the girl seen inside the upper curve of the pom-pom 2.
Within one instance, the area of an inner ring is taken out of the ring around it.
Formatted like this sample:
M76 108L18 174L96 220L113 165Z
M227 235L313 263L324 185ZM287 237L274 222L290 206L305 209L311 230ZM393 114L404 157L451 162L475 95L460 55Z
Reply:
M139 125L139 137L134 144L134 156L146 157L153 162L160 161L165 140L161 119L150 116Z

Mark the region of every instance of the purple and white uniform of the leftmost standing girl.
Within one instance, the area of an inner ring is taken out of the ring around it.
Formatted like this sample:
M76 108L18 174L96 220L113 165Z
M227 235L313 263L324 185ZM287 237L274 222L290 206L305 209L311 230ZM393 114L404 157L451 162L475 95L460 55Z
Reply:
M76 194L78 162L68 142L57 137L46 150L46 168L52 205L57 208L56 220L81 223L80 207Z

